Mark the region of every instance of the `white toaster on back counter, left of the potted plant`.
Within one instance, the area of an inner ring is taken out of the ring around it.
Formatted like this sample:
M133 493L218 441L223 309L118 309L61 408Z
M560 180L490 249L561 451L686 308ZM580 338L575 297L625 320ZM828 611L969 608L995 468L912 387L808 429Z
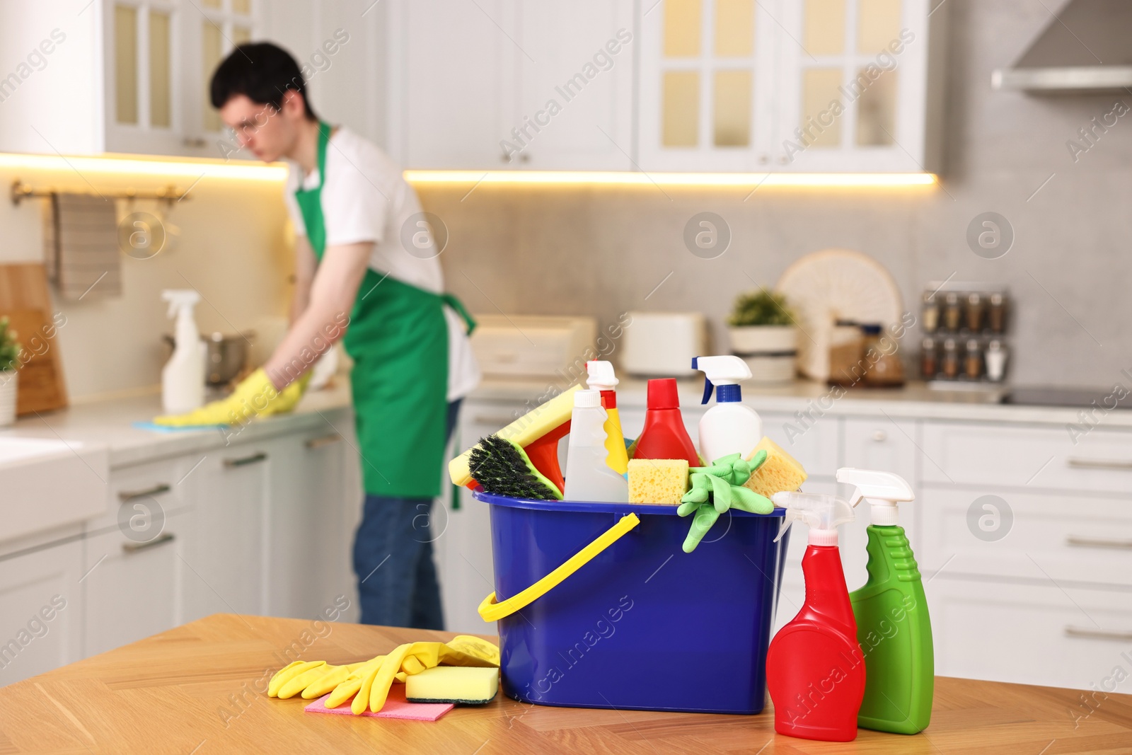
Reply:
M691 377L692 358L711 353L703 312L629 312L621 370L637 377Z

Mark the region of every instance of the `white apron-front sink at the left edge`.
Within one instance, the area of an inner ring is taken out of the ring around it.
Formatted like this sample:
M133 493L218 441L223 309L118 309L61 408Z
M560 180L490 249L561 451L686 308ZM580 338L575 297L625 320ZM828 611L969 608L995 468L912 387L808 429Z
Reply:
M100 444L0 436L0 541L103 515L109 460Z

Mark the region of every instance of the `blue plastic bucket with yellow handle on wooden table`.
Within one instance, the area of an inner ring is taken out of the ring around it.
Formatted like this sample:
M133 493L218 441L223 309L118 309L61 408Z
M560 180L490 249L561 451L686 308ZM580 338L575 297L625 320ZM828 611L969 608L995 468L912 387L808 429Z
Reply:
M724 513L691 554L676 506L491 507L503 689L525 703L758 713L788 537L784 514Z

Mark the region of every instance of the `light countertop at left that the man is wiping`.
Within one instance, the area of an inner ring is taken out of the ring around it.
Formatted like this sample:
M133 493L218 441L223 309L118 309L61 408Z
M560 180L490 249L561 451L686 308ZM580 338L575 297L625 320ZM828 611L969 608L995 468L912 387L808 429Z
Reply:
M307 393L294 412L256 419L234 435L232 430L156 432L135 428L134 422L146 422L163 413L161 395L151 394L76 404L58 412L24 417L14 427L0 431L0 438L48 438L105 445L110 466L117 467L218 448L226 445L229 436L235 443L314 428L344 429L338 427L343 420L331 414L349 406L350 381L336 376L329 386Z

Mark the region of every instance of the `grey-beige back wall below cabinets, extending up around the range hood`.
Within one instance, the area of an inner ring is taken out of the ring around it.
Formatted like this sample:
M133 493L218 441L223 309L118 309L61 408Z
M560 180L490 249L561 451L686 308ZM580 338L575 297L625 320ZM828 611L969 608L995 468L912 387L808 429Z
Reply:
M745 198L749 189L422 186L424 208L448 226L449 288L473 311L608 323L629 309L701 310L719 337L739 291L773 285L807 252L857 249L891 271L912 311L931 280L1009 288L1013 381L1110 385L1132 367L1132 126L1118 122L1086 153L1067 143L1132 95L993 92L992 70L1013 62L1049 12L1029 0L949 6L941 187L763 188ZM730 226L730 248L717 259L685 247L685 224L701 212ZM967 241L987 212L1013 230L997 259ZM915 351L920 334L911 334Z

